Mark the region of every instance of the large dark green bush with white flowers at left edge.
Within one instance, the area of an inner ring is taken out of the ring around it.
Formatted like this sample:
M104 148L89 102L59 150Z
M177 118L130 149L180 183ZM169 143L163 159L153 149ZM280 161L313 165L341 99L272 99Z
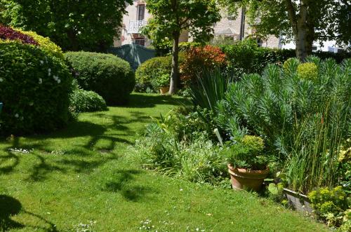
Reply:
M63 60L18 41L0 41L0 67L2 134L51 131L67 124L72 77Z

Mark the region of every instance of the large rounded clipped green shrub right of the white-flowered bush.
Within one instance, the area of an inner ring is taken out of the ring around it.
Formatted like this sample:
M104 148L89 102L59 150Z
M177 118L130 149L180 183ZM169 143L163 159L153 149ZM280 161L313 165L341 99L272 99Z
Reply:
M128 101L135 86L134 73L128 62L102 53L69 52L65 57L81 88L98 93L107 104Z

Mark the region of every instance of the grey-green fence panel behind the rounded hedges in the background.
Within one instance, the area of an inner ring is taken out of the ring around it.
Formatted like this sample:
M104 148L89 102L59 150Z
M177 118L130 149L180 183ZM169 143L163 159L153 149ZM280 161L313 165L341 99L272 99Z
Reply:
M110 48L109 53L128 61L134 71L138 69L140 64L156 56L156 50L145 48L135 43Z

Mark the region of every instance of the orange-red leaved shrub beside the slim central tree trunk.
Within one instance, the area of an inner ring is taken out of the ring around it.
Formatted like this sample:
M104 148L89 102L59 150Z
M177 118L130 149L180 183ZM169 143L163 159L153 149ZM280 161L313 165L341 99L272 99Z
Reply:
M192 47L180 66L181 79L183 82L194 81L204 69L214 69L223 64L225 64L225 54L220 48L210 45Z

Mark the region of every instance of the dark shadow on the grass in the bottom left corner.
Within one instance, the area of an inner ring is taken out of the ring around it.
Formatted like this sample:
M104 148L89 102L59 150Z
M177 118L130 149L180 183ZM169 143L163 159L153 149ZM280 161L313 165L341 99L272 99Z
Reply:
M16 214L19 214L20 212L29 214L32 217L39 219L39 221L44 221L44 223L48 225L48 228L42 226L21 224L20 222L11 219L11 217L15 216ZM55 224L53 224L51 221L44 219L44 217L41 217L40 215L23 210L22 204L19 200L11 196L0 195L0 230L9 231L11 229L20 229L25 227L32 228L33 231L57 231L57 229L55 228Z

